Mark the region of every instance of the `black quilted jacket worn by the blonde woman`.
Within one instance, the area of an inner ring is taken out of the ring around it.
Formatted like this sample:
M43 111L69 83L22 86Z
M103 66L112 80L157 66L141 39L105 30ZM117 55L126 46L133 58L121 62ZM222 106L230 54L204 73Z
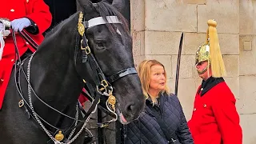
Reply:
M175 144L194 144L177 96L162 94L159 100L153 106L147 99L140 118L125 126L125 144L167 144L171 138Z

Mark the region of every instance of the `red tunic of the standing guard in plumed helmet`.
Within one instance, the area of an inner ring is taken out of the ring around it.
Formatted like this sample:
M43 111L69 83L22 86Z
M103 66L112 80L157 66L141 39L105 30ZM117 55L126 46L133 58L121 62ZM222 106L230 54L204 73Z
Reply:
M242 129L235 98L226 82L220 82L194 99L194 110L188 122L195 144L242 144Z

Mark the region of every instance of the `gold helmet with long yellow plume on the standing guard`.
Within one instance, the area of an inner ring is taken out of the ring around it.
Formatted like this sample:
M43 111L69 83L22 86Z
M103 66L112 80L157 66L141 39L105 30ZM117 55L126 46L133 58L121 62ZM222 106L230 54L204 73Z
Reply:
M208 61L206 70L210 67L214 78L223 77L226 75L226 70L218 42L217 22L210 19L207 24L209 27L206 32L206 42L198 47L195 55L195 64Z

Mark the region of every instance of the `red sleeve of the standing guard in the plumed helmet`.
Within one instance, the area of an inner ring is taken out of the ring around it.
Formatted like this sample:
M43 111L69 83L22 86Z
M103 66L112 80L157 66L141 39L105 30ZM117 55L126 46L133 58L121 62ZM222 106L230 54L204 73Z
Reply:
M214 116L222 134L223 144L242 144L242 128L235 107L235 98L231 93L221 94L213 105Z

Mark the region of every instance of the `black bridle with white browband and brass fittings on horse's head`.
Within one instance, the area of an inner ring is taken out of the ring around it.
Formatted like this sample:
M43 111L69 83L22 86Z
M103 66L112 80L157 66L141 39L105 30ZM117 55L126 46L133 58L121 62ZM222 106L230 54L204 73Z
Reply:
M125 77L129 74L137 74L137 71L134 67L126 68L124 70L119 70L117 73L112 74L110 77L106 78L105 74L103 74L101 67L98 65L97 60L94 58L94 54L91 53L90 46L88 44L88 39L86 38L86 30L92 26L98 26L106 23L120 23L122 24L116 16L107 16L107 22L102 18L92 18L89 21L82 23L82 12L79 14L79 20L78 20L78 32L80 36L82 36L81 40L81 50L82 50L82 63L86 65L87 70L90 72L90 78L93 78L94 85L96 86L96 96L93 96L93 98L90 97L90 99L93 99L93 104L88 110L88 112L85 114L88 116L88 114L91 113L92 110L94 110L94 106L97 106L97 104L94 104L98 102L99 98L103 96L108 96L107 102L110 103L112 110L109 109L108 106L106 108L114 114L115 108L114 105L116 103L116 100L114 96L112 95L113 87L111 86L111 83L117 81L119 78ZM75 55L77 57L77 55ZM76 65L76 63L75 63ZM94 94L94 90L92 90L91 86L88 86L90 95ZM87 96L90 96L89 94L86 94ZM110 102L112 100L112 102ZM113 102L114 101L114 102ZM82 110L83 111L83 110ZM117 120L118 116L115 115L114 121ZM112 121L110 121L112 122ZM106 126L109 122L103 122L98 123L98 126ZM106 124L106 125L105 125Z

